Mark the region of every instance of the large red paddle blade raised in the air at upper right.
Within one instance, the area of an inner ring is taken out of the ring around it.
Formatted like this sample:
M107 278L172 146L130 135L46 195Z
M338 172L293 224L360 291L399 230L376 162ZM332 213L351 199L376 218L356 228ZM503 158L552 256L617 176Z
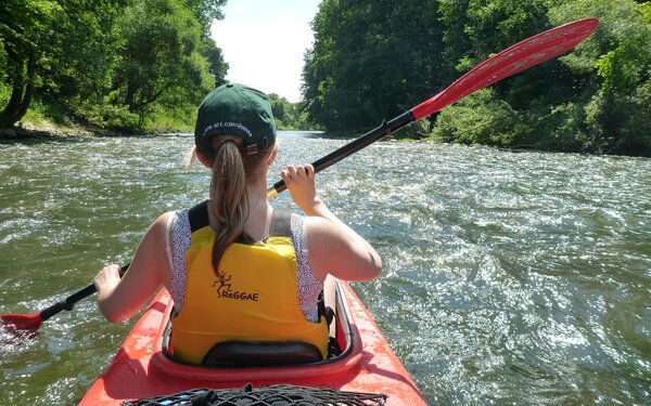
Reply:
M411 109L416 120L443 109L480 89L570 51L599 26L597 18L584 18L540 32L507 48L468 71L446 90Z

